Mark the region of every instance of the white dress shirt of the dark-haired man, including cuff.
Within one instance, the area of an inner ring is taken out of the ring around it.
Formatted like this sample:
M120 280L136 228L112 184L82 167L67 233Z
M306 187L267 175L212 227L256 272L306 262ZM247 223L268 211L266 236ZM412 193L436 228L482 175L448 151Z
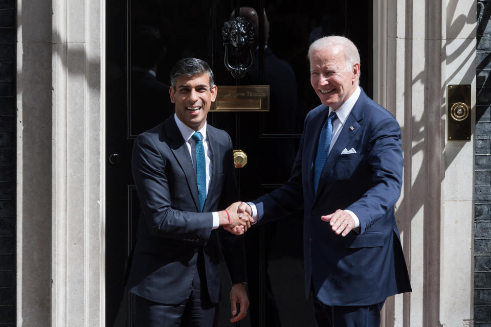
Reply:
M186 147L188 148L189 155L191 157L191 161L193 162L193 167L194 170L196 170L196 142L194 139L191 137L193 136L195 130L192 128L189 128L186 126L183 122L181 122L178 118L177 115L174 113L174 120L175 123L177 124L177 128L181 132L181 135L183 135L184 141L186 142ZM203 126L202 129L198 130L198 132L201 133L202 140L203 140L203 147L205 148L205 166L206 166L206 194L208 194L208 187L210 186L210 177L211 177L211 171L212 171L212 162L211 162L211 152L210 152L210 147L209 147L209 142L208 138L206 137L206 122L205 126ZM214 212L213 213L213 229L218 228L220 224L219 218L218 218L218 213Z

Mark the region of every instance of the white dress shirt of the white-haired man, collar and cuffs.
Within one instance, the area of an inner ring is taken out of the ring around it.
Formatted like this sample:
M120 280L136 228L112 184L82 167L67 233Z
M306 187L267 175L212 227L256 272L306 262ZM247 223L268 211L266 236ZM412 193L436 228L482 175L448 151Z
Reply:
M344 124L346 123L346 120L348 119L349 113L351 112L351 109L353 109L354 104L356 101L358 101L358 98L360 97L361 89L360 86L356 87L354 90L353 94L346 100L341 107L336 110L336 115L338 116L338 119L334 119L332 121L332 136L331 136L331 143L329 145L329 151L327 154L329 155L329 152L331 152L332 147L338 140L339 134L341 134L341 130L343 129ZM329 107L329 114L333 110ZM257 222L257 208L256 205L252 202L247 202L252 209L252 216L254 218L254 223ZM356 216L352 211L350 210L345 210L354 220L354 231L360 232L360 219L358 219L358 216ZM326 213L328 215L328 213ZM356 228L356 229L355 229Z

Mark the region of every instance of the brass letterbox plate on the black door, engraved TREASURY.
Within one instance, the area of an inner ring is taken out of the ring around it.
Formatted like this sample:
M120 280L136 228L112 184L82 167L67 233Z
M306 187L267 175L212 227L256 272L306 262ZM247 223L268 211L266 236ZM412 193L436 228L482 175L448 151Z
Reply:
M221 85L210 111L270 111L269 85Z

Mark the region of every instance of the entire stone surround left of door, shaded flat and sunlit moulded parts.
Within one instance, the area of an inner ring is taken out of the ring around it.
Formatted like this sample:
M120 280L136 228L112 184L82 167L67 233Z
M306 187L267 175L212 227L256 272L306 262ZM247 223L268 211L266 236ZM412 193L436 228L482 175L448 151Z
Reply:
M102 326L104 4L17 10L17 325Z

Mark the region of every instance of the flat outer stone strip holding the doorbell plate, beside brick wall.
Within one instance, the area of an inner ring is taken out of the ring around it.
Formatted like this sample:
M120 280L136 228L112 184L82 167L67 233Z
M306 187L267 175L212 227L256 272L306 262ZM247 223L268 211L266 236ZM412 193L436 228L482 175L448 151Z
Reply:
M448 85L470 84L473 130L467 142L443 139L440 320L447 326L472 326L477 4L475 0L453 0L447 1L443 9L446 33L442 104L447 111ZM447 123L451 118L445 114L443 119Z

